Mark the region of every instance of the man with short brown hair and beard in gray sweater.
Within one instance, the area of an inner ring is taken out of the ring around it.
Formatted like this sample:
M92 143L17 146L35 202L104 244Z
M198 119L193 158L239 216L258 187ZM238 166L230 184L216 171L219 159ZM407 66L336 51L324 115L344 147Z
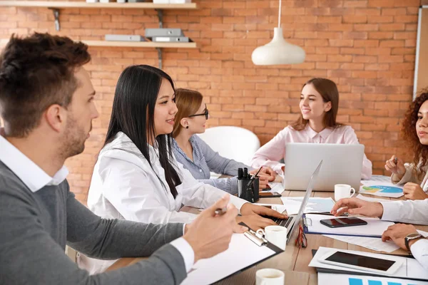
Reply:
M228 197L187 225L101 219L75 199L63 163L83 152L98 117L90 60L83 43L47 33L12 36L1 53L0 284L180 284L243 230ZM66 244L101 259L151 257L89 276Z

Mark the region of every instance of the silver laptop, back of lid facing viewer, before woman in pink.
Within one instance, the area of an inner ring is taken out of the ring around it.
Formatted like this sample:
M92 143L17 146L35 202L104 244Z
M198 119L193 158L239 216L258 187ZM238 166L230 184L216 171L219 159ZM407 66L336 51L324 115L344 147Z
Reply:
M335 191L335 184L360 189L364 145L295 143L285 145L285 190L306 190L312 170L324 161L314 191Z

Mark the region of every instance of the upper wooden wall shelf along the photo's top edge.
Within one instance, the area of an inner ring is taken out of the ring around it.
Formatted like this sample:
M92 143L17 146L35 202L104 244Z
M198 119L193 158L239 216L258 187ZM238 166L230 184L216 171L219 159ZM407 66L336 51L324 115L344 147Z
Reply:
M14 7L45 7L52 9L64 8L96 8L96 9L197 9L196 3L185 4L153 4L141 3L86 3L84 1L0 1L0 6Z

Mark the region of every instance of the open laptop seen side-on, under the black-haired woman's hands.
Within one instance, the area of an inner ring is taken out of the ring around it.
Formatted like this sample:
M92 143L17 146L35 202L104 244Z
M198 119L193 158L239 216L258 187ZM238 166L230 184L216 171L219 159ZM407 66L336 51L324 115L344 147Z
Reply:
M322 160L320 161L320 164L318 165L317 169L312 173L312 176L310 177L309 184L307 185L306 194L305 197L302 200L302 204L300 205L299 212L297 212L296 215L288 216L287 219L273 219L274 222L276 222L278 225L282 227L287 228L287 244L290 242L290 237L292 236L292 233L299 227L300 219L302 219L303 212L305 212L307 201L309 200L310 195L312 194L312 189L315 184L315 180L317 180L317 176L320 173L320 168L322 165Z

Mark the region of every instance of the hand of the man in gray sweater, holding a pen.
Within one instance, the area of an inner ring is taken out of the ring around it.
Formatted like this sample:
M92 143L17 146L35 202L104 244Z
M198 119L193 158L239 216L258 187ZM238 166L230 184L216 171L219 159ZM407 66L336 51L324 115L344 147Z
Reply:
M229 248L233 232L247 230L246 227L236 224L238 209L233 204L228 204L229 199L230 195L225 195L213 206L201 212L191 224L186 225L183 238L195 252L195 262L224 252ZM227 207L225 214L215 214L215 209L225 207Z

